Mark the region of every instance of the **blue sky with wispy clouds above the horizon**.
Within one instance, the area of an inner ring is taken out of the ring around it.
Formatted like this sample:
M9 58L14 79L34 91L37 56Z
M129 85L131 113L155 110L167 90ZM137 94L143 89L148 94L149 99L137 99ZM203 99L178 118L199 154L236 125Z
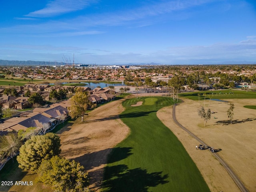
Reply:
M0 14L2 60L256 63L254 0L20 0Z

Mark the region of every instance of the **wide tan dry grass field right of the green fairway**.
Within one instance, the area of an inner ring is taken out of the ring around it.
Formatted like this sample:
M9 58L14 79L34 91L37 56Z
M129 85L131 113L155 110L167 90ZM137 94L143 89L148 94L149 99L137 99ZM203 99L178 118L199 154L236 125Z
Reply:
M234 102L234 122L228 121L228 103L211 101L200 102L184 99L184 103L176 106L176 119L215 149L232 170L242 180L249 191L256 191L256 111L244 108L244 105L256 105L256 99L232 99ZM197 110L202 106L215 113L204 127L203 120ZM234 181L218 160L208 150L196 150L199 143L179 128L172 120L172 106L158 112L158 118L174 132L182 142L190 157L194 160L211 191L240 191ZM215 117L215 118L214 118Z

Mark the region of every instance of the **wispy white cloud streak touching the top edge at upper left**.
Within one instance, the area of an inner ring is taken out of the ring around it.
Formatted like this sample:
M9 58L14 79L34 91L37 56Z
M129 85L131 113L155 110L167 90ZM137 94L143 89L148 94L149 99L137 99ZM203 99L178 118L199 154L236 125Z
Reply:
M51 17L68 12L82 10L86 6L96 2L98 2L98 0L52 0L46 4L45 8L30 12L25 16L39 18Z

